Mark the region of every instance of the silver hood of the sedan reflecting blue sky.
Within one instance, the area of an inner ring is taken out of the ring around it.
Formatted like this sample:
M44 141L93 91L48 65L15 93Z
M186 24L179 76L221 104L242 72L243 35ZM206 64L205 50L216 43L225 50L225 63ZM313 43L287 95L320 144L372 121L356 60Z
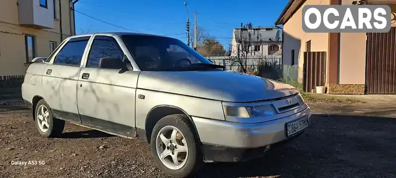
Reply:
M143 71L138 88L229 102L268 100L298 92L274 80L228 71Z

